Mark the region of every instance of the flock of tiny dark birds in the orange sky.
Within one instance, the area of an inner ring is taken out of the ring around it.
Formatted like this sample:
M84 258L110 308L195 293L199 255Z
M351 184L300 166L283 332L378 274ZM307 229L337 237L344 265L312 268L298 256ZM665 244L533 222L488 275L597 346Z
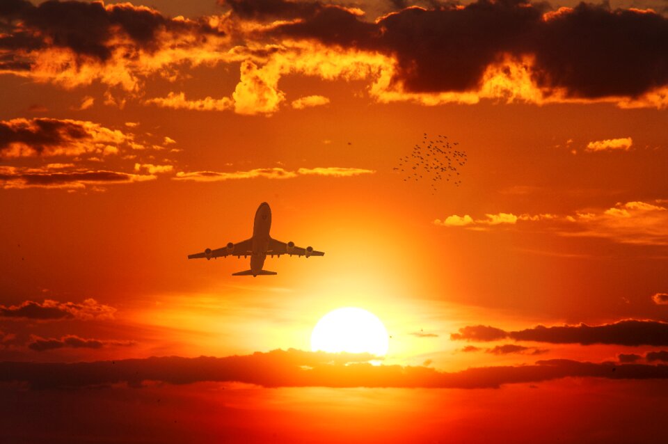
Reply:
M466 165L466 152L456 150L458 143L447 140L447 136L438 134L435 140L422 136L422 143L416 143L410 156L399 157L399 164L393 171L406 175L404 182L429 180L431 193L438 190L441 183L451 182L456 187L461 185L459 167Z

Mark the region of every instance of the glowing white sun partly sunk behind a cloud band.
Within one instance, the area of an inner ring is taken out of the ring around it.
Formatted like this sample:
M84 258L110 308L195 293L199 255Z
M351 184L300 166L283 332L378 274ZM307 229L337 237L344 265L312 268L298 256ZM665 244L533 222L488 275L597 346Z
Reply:
M384 356L389 348L388 331L381 319L362 308L345 307L328 312L311 333L312 351Z

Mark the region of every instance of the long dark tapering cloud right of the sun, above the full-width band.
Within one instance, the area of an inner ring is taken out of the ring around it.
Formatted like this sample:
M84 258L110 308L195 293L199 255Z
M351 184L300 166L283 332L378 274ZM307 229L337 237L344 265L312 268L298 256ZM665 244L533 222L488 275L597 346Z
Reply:
M488 342L511 338L516 341L548 342L551 344L617 344L668 345L668 323L625 319L612 324L589 326L536 326L521 331L503 331L491 326L466 326L452 333L451 340Z

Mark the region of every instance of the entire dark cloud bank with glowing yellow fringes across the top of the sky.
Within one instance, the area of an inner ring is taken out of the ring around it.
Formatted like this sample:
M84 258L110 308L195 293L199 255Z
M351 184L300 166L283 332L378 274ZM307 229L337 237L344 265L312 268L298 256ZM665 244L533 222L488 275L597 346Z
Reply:
M150 102L159 106L233 102L237 113L270 115L285 101L287 74L363 79L383 103L668 106L668 18L652 10L478 0L373 21L319 1L226 0L228 13L184 19L130 3L10 1L0 10L0 73L67 88L100 81L138 96L154 74L173 81L191 66L241 64L231 100Z

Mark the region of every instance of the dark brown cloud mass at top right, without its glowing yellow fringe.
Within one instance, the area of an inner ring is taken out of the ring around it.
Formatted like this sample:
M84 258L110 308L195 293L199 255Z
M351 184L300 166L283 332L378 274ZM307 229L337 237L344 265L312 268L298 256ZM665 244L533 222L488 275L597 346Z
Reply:
M319 3L237 0L233 10L257 16L263 7L274 14L289 8L296 15L307 4ZM543 2L479 0L406 8L371 24L342 8L306 9L301 21L271 35L392 54L393 80L410 92L475 90L489 65L527 54L537 86L566 97L637 97L668 84L668 19L656 13L607 3L555 12Z

